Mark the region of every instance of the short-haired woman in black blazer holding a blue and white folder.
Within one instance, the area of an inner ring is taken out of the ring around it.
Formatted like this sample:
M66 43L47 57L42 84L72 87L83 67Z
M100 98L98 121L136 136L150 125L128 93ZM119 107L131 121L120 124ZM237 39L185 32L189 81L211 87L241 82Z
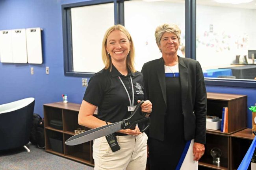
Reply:
M158 26L155 37L162 57L145 63L141 71L154 106L148 130L150 170L197 169L206 140L202 68L198 61L177 55L178 26Z

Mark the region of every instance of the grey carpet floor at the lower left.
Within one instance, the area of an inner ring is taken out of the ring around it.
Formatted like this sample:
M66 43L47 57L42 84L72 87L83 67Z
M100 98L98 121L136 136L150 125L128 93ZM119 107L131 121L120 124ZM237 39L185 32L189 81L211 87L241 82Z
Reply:
M60 157L29 144L30 152L21 147L0 151L0 170L93 170L70 159Z

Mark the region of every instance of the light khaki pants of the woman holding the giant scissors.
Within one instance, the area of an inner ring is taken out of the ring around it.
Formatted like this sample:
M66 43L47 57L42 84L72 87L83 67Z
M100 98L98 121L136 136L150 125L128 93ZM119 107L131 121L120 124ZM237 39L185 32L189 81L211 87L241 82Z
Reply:
M95 170L145 170L147 163L147 135L116 136L121 147L112 152L106 137L95 139L93 159Z

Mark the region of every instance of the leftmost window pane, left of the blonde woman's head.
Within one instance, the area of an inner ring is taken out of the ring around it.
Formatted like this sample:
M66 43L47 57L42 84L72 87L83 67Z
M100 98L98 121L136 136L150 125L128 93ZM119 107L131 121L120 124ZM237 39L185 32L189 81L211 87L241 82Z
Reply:
M102 39L106 29L114 25L114 18L113 3L71 8L74 72L95 73L104 68Z

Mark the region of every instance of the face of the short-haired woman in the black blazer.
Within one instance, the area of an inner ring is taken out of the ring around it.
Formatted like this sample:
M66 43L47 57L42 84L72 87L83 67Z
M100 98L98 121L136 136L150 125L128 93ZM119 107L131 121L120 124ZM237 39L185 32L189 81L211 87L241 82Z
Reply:
M172 55L177 53L179 46L180 42L177 35L174 33L165 32L160 40L159 49L163 55Z

